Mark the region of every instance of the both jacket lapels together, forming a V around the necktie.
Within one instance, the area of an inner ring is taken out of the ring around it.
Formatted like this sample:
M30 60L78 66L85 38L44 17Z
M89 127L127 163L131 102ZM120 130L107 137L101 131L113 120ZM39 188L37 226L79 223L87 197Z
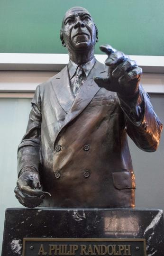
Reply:
M55 76L51 82L52 87L61 107L66 113L65 120L55 136L55 141L62 129L87 107L94 95L100 90L100 87L94 82L93 77L101 76L101 73L105 72L106 66L96 61L75 99L70 87L68 67L66 66Z

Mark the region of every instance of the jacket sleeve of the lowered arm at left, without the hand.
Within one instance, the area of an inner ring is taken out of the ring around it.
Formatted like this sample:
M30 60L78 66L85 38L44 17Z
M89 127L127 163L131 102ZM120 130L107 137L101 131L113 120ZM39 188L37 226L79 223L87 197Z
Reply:
M37 172L39 170L42 121L39 86L36 88L31 106L26 134L18 146L18 176L29 169Z

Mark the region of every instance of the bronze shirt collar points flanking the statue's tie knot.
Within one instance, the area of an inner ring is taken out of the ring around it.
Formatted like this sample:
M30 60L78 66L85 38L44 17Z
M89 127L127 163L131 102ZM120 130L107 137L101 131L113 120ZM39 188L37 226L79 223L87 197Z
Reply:
M90 71L91 71L93 65L95 64L95 62L96 62L96 58L93 57L93 58L91 59L91 61L89 61L89 62L87 62L87 63L81 65L81 66L82 66L82 69L83 69L83 71L84 71L84 73L85 73L85 75L86 75L86 77L87 77L88 74L90 73ZM77 70L77 67L78 67L78 66L79 66L78 64L74 63L72 60L69 59L68 70L69 70L69 74L70 74L70 79L71 79L71 78L73 77L73 75L76 73L76 70Z

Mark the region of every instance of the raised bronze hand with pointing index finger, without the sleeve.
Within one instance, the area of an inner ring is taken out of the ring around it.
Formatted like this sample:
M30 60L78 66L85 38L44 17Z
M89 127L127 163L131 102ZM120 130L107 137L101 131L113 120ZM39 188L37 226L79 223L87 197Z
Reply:
M105 64L109 67L106 78L94 77L94 81L109 91L130 98L137 95L142 69L127 55L109 45L100 46L100 50L108 55Z

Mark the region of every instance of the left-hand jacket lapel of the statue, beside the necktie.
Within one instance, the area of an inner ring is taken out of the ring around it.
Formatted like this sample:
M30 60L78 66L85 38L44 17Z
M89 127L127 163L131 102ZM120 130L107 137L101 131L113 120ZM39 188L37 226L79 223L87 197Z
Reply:
M67 65L59 72L51 82L59 104L67 114L73 104L74 96L70 87L70 79Z

